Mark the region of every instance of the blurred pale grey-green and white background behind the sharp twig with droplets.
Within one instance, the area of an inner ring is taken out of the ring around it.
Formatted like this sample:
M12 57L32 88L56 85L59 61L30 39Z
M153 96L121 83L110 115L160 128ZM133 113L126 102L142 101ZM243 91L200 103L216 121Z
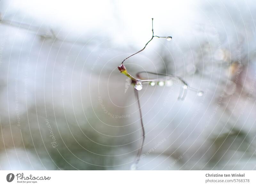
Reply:
M139 170L256 169L251 1L0 1L0 169L129 170L141 142L121 61L143 86Z

